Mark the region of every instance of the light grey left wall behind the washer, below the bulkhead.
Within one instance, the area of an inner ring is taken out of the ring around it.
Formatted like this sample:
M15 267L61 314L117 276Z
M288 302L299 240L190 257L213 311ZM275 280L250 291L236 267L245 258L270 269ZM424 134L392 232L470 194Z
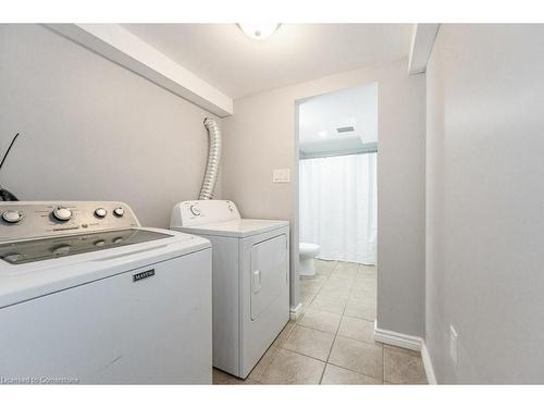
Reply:
M198 196L208 112L40 25L0 25L0 151L22 135L0 183L20 199L123 200L168 226Z

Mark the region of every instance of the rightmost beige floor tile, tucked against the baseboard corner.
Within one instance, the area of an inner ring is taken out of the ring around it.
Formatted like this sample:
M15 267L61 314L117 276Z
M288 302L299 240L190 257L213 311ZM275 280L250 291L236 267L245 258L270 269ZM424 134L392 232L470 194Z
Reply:
M421 357L384 348L384 381L394 384L426 384Z

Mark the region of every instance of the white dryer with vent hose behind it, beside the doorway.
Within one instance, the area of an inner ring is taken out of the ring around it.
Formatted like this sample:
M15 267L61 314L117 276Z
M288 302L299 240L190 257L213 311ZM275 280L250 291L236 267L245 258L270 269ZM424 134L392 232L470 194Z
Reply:
M197 200L177 203L170 227L212 244L213 366L245 379L289 320L289 224Z

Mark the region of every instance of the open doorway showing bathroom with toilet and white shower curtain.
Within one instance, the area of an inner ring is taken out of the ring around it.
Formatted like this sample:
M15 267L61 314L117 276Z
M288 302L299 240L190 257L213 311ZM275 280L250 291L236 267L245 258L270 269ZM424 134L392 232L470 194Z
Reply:
M378 83L296 103L299 299L375 320Z

